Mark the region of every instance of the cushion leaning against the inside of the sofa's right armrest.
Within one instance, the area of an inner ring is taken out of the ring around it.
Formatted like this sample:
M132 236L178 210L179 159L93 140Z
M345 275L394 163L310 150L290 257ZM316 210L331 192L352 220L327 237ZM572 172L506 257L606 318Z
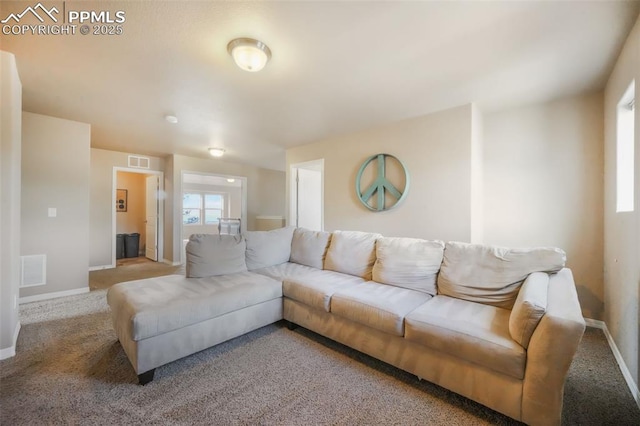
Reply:
M534 272L529 275L520 291L509 316L509 334L520 346L527 349L538 323L547 310L549 274Z

